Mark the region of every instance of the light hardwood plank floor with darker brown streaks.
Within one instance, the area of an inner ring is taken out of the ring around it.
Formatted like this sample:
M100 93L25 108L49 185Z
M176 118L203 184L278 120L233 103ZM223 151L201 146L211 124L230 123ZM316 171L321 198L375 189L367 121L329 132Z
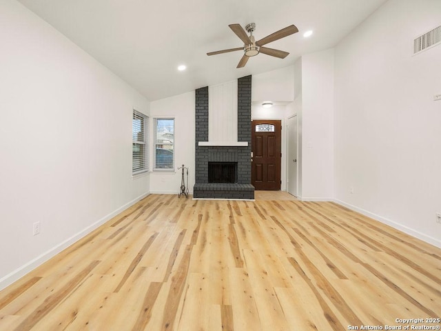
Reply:
M8 331L405 330L441 324L396 319L439 317L439 248L295 200L152 194L0 292Z

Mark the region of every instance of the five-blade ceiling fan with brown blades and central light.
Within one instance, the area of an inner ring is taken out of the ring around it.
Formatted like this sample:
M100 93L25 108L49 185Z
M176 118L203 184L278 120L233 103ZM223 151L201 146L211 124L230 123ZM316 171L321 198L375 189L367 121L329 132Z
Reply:
M245 26L245 29L247 29L247 32L249 32L249 36L247 35L247 32L243 30L240 24L229 24L229 28L233 30L236 36L239 37L240 40L245 43L245 45L238 48L229 48L228 50L217 50L216 52L209 52L207 53L207 55L216 55L227 52L234 52L236 50L243 50L245 54L243 54L243 57L242 59L240 59L236 68L245 67L245 64L247 64L249 57L255 57L259 53L267 54L271 57L278 57L279 59L285 59L285 57L287 57L289 54L288 52L284 52L283 50L275 50L274 48L263 47L263 45L298 32L298 28L296 28L296 26L294 26L293 24L291 26L283 28L282 30L271 33L269 34L269 36L263 39L256 41L253 36L253 31L256 30L255 23L249 23L247 24L247 26Z

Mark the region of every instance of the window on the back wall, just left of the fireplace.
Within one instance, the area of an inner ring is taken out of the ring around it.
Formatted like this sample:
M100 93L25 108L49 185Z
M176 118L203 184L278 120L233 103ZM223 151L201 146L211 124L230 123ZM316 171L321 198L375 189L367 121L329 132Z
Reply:
M154 169L174 170L174 119L154 119Z

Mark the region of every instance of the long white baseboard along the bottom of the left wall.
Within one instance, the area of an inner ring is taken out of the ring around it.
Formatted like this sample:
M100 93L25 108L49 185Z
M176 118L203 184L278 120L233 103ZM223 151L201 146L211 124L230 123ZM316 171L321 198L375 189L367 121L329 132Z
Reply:
M39 265L43 264L45 261L48 261L49 259L51 259L55 255L59 254L59 252L65 250L66 248L68 248L70 245L72 245L76 241L79 241L79 239L85 237L85 235L89 234L90 232L92 232L96 228L99 228L99 226L103 225L105 222L107 222L110 219L112 219L112 217L115 217L117 214L123 212L123 210L126 210L131 205L134 205L139 200L144 199L149 194L150 194L150 192L146 192L146 193L142 194L141 196L137 197L136 199L134 199L134 200L132 200L132 201L130 201L128 203L125 203L125 205L123 205L120 208L114 210L110 214L107 214L102 219L99 219L98 221L92 223L87 228L85 228L85 229L81 230L80 232L74 234L72 237L66 239L65 241L63 241L61 243L59 243L58 245L54 246L50 250L48 250L46 252L43 252L43 254L40 254L35 259L32 259L28 263L25 263L24 265L22 265L20 268L10 272L5 277L2 277L0 279L0 290L2 290L3 288L6 288L6 286L8 286L8 285L11 285L12 283L14 283L14 281L19 280L25 274L28 274L29 272L31 272L32 270L37 268Z

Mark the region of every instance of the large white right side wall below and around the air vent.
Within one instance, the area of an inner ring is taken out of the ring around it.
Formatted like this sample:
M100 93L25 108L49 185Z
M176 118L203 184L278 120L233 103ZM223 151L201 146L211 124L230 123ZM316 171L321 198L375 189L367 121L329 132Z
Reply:
M391 0L335 50L336 199L441 247L439 0ZM351 194L349 191L353 189Z

